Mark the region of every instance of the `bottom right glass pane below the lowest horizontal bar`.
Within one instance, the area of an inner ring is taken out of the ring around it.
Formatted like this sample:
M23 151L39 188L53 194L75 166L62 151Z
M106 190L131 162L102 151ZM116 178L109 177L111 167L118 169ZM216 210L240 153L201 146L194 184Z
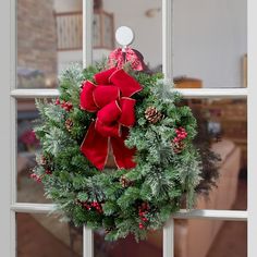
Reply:
M175 257L246 257L247 223L175 220Z

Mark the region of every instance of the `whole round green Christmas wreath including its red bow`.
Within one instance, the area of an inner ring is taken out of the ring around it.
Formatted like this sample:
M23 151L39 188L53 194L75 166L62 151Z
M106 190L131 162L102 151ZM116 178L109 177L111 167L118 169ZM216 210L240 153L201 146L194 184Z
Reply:
M161 74L114 59L70 66L60 97L36 100L41 150L32 178L75 225L142 240L194 204L203 180L196 120Z

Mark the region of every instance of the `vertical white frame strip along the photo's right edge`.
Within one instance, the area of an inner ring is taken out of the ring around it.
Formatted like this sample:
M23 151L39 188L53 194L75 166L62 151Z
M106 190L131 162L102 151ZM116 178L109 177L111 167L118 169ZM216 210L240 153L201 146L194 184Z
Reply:
M248 131L247 131L247 143L248 143L248 159L247 159L247 207L248 207L248 223L247 223L247 256L254 257L257 253L256 244L256 228L257 228L257 172L256 172L256 146L257 146L257 122L256 122L256 110L257 110L257 74L256 74L256 63L257 63L257 30L256 30L256 11L257 2L256 0L248 0Z

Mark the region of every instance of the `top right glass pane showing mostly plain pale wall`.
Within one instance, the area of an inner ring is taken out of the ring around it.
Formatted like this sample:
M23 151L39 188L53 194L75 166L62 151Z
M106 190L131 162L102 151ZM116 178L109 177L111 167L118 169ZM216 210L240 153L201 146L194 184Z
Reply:
M174 1L174 76L180 87L246 86L246 13L247 1Z

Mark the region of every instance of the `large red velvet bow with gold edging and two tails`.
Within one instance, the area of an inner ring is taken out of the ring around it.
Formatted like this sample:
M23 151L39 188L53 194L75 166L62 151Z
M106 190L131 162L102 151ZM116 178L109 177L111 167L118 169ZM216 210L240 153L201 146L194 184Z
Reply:
M123 70L114 68L97 73L96 84L86 81L81 91L81 108L97 112L82 143L81 150L99 170L102 170L108 159L109 146L112 147L118 168L131 169L135 149L128 149L124 140L128 128L135 123L132 99L142 86Z

